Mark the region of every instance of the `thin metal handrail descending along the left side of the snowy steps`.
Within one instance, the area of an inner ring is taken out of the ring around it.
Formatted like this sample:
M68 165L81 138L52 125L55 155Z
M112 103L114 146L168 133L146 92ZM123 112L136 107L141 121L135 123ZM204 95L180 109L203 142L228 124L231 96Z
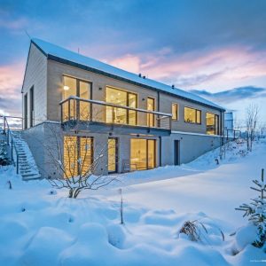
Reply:
M7 118L16 118L16 119L22 119L22 118L21 117L15 117L15 116L5 116L5 115L1 115L1 117L4 118L4 134L6 135L7 145L11 145L12 162L16 166L17 174L19 174L20 173L20 154L18 153L18 148L17 148L16 143L14 141L12 130L9 126ZM18 129L18 131L19 130L21 130L21 129ZM13 150L14 150L15 154L13 154Z

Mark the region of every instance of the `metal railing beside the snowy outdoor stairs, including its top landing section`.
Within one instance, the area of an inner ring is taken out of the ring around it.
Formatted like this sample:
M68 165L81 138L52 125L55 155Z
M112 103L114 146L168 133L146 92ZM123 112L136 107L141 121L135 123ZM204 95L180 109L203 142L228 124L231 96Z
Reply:
M22 130L22 122L21 127L19 126L18 120L22 121L21 117L15 117L15 116L4 116L1 115L0 118L3 119L3 122L0 123L3 125L3 131L4 135L6 136L6 143L11 147L11 157L12 157L12 163L16 166L16 172L17 174L20 173L20 154L18 152L18 147L16 146L16 143L14 141L14 137L12 134L12 130ZM12 120L12 126L10 126L7 119Z

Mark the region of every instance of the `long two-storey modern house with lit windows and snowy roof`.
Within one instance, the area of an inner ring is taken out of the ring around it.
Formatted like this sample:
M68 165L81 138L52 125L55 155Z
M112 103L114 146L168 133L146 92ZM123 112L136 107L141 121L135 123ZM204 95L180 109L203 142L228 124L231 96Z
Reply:
M186 163L221 145L223 107L39 39L21 92L24 135L43 177L58 175L56 150L69 171L100 157L95 174L106 175Z

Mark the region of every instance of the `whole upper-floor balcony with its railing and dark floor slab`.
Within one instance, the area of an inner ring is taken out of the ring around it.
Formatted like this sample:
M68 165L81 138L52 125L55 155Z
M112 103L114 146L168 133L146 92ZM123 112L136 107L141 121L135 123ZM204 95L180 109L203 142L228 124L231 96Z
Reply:
M171 132L171 113L75 96L66 98L59 104L64 129L149 135L169 135Z

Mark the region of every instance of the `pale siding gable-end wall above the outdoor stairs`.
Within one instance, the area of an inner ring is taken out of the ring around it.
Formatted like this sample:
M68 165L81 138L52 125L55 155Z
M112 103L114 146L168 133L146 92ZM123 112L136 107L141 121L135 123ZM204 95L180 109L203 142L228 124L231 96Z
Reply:
M47 118L47 59L34 44L31 44L22 88L23 118L25 118L24 96L27 93L27 126L29 126L29 90L33 86L35 106L34 125L37 125Z

